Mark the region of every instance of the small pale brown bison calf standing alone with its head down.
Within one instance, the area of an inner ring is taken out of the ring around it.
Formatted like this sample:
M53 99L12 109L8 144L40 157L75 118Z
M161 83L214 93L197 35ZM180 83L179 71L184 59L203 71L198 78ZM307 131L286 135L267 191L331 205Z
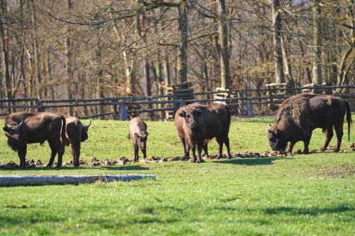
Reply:
M149 133L147 133L147 124L142 121L140 117L135 117L129 121L129 135L133 142L134 157L133 162L137 162L138 147L142 150L144 158L147 158L147 138Z

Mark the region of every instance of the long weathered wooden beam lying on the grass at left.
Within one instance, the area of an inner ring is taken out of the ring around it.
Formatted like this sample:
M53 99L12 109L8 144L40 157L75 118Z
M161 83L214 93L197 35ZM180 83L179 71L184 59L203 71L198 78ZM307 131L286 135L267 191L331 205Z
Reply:
M142 179L156 179L151 174L127 174L106 176L0 176L0 187L19 185L73 185L78 183L94 183L95 181L131 181Z

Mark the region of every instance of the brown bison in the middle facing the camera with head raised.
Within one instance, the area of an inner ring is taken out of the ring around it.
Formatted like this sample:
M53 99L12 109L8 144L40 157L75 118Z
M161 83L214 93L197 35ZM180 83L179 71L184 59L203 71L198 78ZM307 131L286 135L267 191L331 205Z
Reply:
M213 137L215 137L219 146L217 158L222 157L223 144L226 145L227 158L231 158L228 137L231 112L228 106L222 104L210 106L190 104L181 109L179 116L183 117L183 133L181 135L185 135L185 142L192 149L191 162L202 162L202 148L206 144L206 140L213 139ZM196 146L198 157L195 154Z

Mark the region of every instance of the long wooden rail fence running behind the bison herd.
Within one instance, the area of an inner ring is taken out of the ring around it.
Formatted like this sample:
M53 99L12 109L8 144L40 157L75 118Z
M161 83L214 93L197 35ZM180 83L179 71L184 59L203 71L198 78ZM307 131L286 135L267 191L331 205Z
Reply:
M333 93L339 88L347 90L347 93L336 94L336 96L348 99L355 106L355 86L320 86L312 87L312 90L320 93ZM83 119L100 117L101 119L127 120L130 117L148 114L147 119L162 120L171 118L172 114L181 106L196 102L202 104L226 103L231 108L233 115L247 115L251 117L253 115L272 114L284 99L304 90L308 91L309 88L225 90L225 98L215 96L220 92L196 92L187 94L192 95L194 98L189 100L178 99L174 94L121 96L101 99L2 99L0 100L0 116L5 116L15 111L27 110L32 112L58 112ZM214 99L208 99L210 97L214 97ZM71 110L73 110L72 114L70 114Z

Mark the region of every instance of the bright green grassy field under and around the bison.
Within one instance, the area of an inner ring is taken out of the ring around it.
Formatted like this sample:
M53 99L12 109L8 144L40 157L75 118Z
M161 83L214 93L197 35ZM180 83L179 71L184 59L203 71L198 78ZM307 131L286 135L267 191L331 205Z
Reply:
M182 155L173 122L147 123L147 155ZM269 123L271 117L234 119L229 135L231 151L270 150L265 135ZM92 121L89 140L81 150L83 158L131 158L132 144L125 138L128 124ZM323 140L320 130L315 130L310 150L322 146ZM351 140L355 140L354 128ZM335 142L333 138L331 144ZM343 153L207 160L201 164L179 161L1 170L1 175L155 174L157 179L1 187L0 235L354 235L355 153L347 146L345 135ZM295 149L303 149L303 144ZM215 141L209 151L217 153ZM31 144L27 159L47 162L49 153L47 143ZM67 148L65 160L69 158ZM0 162L9 160L19 162L2 134Z

